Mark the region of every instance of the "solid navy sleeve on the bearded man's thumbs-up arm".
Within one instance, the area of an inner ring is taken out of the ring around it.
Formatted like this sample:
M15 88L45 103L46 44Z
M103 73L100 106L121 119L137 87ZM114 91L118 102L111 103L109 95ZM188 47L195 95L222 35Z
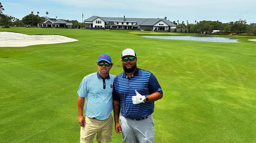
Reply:
M158 83L156 76L153 73L151 73L151 75L149 77L148 87L149 87L149 91L151 94L154 92L163 93L162 88L161 88L160 84Z

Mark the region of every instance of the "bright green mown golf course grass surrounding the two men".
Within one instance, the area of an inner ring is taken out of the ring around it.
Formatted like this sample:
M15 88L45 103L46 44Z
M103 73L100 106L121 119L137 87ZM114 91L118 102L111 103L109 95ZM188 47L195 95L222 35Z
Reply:
M155 102L156 143L256 142L256 37L240 43L163 40L142 35L197 36L128 30L0 28L57 34L75 42L0 47L0 142L79 142L77 90L97 71L100 54L122 72L121 51L153 72L164 97ZM113 129L113 143L122 136ZM96 143L96 140L94 141Z

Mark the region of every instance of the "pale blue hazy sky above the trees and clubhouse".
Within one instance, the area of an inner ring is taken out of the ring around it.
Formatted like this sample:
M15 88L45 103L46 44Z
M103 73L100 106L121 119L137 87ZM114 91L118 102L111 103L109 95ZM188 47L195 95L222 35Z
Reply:
M181 23L246 20L256 23L256 0L0 0L4 14L18 19L39 11L39 16L82 22L100 17L164 18ZM82 13L84 18L82 19Z

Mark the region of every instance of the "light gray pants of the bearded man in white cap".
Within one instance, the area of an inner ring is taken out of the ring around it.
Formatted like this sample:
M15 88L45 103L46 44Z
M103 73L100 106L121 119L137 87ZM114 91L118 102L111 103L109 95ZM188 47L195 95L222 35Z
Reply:
M123 143L154 143L155 129L152 114L147 119L133 120L120 115Z

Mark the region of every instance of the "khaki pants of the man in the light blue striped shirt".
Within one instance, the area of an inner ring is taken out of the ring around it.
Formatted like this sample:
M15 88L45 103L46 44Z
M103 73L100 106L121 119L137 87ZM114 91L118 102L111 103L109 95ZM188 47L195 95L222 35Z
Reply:
M110 114L105 120L88 118L85 116L85 125L80 130L80 143L93 143L93 138L97 133L96 139L101 143L112 141L113 117Z

